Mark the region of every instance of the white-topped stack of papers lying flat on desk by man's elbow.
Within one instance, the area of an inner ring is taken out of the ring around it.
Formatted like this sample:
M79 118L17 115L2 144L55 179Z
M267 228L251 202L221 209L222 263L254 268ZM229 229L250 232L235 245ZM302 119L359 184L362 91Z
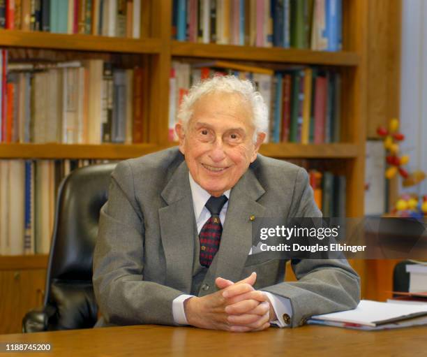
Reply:
M361 330L382 330L427 323L427 305L361 300L356 309L311 316L309 324Z

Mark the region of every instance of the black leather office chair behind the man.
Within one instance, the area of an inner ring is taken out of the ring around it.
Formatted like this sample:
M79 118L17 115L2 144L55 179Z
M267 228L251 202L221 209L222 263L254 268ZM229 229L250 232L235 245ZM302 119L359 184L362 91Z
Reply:
M92 287L100 207L115 163L78 168L59 188L43 307L22 319L23 332L91 328L98 307Z

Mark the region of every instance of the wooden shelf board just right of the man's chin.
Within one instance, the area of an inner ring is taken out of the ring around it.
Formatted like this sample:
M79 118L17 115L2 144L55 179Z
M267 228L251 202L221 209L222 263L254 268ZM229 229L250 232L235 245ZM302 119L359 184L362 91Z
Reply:
M359 154L355 144L264 144L260 154L278 159L353 159Z

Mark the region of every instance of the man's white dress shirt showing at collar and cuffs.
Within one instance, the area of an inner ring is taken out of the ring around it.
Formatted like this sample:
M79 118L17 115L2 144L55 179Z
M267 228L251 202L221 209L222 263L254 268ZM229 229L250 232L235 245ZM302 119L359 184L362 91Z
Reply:
M193 208L195 214L195 220L197 224L197 234L202 230L203 225L206 221L211 217L211 212L204 205L207 203L211 195L202 189L193 177L188 173L188 177L190 178L190 189L191 196L193 197ZM230 190L224 192L224 195L227 198L230 198ZM228 201L223 205L223 209L221 210L219 216L221 224L224 225L225 214L227 214ZM249 252L248 252L249 254ZM288 298L283 298L281 296L276 296L272 293L268 293L267 291L263 291L265 295L271 301L271 305L273 305L274 312L276 313L277 320L271 321L271 323L276 324L279 327L289 327L283 321L283 314L288 314L292 318L292 306L290 300ZM187 325L186 314L184 312L183 303L188 298L193 298L193 295L182 294L175 298L172 302L172 314L174 316L174 322L178 325Z

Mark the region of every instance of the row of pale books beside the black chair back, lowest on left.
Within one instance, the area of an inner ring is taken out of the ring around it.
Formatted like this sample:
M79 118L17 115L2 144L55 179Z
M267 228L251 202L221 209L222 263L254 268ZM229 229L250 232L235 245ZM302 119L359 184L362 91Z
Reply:
M0 255L48 254L63 177L99 160L0 160Z

